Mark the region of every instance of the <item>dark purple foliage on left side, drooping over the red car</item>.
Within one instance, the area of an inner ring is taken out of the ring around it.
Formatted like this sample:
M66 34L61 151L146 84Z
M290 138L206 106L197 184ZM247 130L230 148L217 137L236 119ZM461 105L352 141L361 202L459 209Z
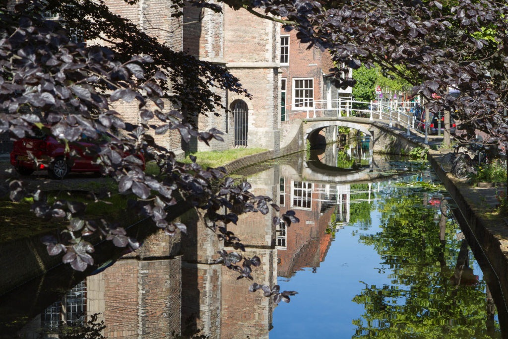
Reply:
M46 10L58 12L62 21L46 20L41 15ZM181 13L181 7L175 13ZM104 39L110 47L71 42L68 32L73 25L84 28L87 39ZM117 193L133 198L128 208L151 218L167 234L174 235L177 229L186 232L186 226L170 221L166 211L181 200L199 209L203 221L220 239L243 250L240 239L227 230L228 224L236 224L239 213L267 214L270 205L278 210L269 197L250 193L248 182L237 184L225 178L224 168L201 168L195 157L191 164L178 162L172 151L154 141L153 134L164 135L169 130L177 130L187 142L191 137L205 143L222 140L223 133L216 129L196 131L188 117L220 106L213 86L248 96L224 68L172 51L110 13L104 3L87 1L71 1L66 6L56 1L44 6L27 1L14 10L2 2L0 57L0 132L19 139L43 130L68 150L69 145L79 146L77 142L85 136L94 146L84 149L84 155L95 159L102 174L117 182ZM114 110L112 103L120 100L137 104L138 125L125 122ZM168 109L168 101L179 110ZM100 140L100 134L111 129L120 136ZM74 159L80 157L75 151L69 153ZM136 157L140 153L158 165L159 174L143 171ZM50 159L38 161L50 165ZM114 221L88 215L87 203L72 198L50 200L42 189L29 190L12 170L10 173L0 193L9 194L13 201L33 198L31 209L39 218L68 221L64 231L45 236L43 242L49 254L63 254L62 261L74 269L83 271L93 264L89 239L94 234L117 246L139 247ZM94 196L90 203L101 198ZM292 211L280 218L288 226L298 222ZM274 223L279 223L279 217ZM256 266L256 260L242 256L240 260L243 276L252 279L250 267Z

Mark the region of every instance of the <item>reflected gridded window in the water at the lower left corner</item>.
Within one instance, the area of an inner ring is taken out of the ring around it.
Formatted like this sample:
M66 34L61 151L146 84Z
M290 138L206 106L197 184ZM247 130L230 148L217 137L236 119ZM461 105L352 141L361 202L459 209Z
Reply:
M41 313L41 326L56 331L59 323L78 325L86 320L86 282L82 281Z

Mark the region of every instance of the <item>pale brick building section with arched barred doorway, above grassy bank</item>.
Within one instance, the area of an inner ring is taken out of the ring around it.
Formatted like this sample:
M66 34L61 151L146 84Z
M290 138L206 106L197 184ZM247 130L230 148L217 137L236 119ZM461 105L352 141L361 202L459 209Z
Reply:
M232 147L278 148L280 24L259 18L246 10L234 11L222 4L223 12L187 6L183 19L183 51L201 60L226 66L251 95L215 89L230 112L199 116L200 130L217 128L225 142L212 142L213 149ZM209 150L196 141L190 150Z

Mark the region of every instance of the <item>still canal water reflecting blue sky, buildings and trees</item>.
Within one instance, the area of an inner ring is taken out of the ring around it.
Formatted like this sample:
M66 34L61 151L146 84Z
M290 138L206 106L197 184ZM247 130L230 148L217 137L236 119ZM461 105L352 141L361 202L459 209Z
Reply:
M108 338L502 336L495 304L504 300L427 162L372 156L358 140L235 178L300 220L273 226L277 212L250 213L229 228L245 244L244 256L260 258L253 281L297 291L289 303L249 292L251 281L216 264L224 247L187 213L188 236L168 241L154 232L140 251L84 279L71 273L65 284L33 283L3 295L10 302L34 297L9 314L2 308L0 336L64 337L72 326ZM82 325L86 315L95 321Z

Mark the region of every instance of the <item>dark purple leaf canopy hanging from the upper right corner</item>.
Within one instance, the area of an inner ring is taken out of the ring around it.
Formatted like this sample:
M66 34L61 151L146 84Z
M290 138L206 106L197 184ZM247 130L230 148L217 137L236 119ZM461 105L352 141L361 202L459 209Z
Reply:
M226 3L230 1L224 0ZM235 1L237 3L237 1ZM244 4L285 17L303 43L329 49L335 65L378 65L412 84L431 112L458 112L465 142L475 130L486 144L506 146L503 109L508 96L508 7L504 2L395 0L357 2L257 0ZM495 27L495 28L494 28ZM489 30L490 29L490 30ZM495 31L493 30L495 29ZM404 67L404 72L397 68ZM354 79L335 77L345 88ZM460 97L448 94L460 90ZM436 93L439 97L432 98Z

